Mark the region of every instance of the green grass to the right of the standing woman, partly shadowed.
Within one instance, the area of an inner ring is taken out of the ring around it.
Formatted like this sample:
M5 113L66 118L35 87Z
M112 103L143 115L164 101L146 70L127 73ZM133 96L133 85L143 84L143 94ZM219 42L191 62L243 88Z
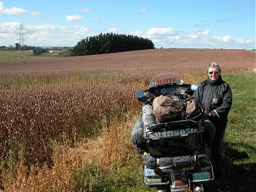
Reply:
M256 190L256 78L255 73L230 74L233 104L225 132L225 160L229 188ZM239 182L238 182L239 180Z

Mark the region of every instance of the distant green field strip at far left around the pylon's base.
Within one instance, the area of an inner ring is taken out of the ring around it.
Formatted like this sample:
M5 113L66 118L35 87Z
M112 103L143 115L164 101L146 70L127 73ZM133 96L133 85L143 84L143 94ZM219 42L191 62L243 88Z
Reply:
M46 52L46 53L43 53L41 55L34 56L33 52L31 52L29 50L26 51L27 60L28 59L57 58L58 54L59 54L59 52ZM18 55L17 50L16 51L0 50L0 61L14 61L14 60L17 60L17 55Z

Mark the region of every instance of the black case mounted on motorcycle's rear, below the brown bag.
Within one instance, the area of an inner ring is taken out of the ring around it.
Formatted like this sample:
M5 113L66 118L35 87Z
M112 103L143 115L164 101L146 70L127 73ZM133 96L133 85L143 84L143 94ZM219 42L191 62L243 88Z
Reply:
M193 155L202 147L201 121L175 121L154 124L144 130L151 156Z

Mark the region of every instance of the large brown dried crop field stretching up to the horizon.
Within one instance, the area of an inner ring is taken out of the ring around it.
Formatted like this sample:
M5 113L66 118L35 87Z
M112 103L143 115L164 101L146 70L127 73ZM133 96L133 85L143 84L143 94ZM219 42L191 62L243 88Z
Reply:
M123 191L136 191L136 170L130 177L121 172L138 161L129 138L141 110L135 92L166 72L199 84L210 62L220 64L224 80L255 70L253 52L223 49L0 62L0 191L111 191L96 187L106 182L99 176L104 171L113 176L109 185L115 180L110 167L131 186Z

